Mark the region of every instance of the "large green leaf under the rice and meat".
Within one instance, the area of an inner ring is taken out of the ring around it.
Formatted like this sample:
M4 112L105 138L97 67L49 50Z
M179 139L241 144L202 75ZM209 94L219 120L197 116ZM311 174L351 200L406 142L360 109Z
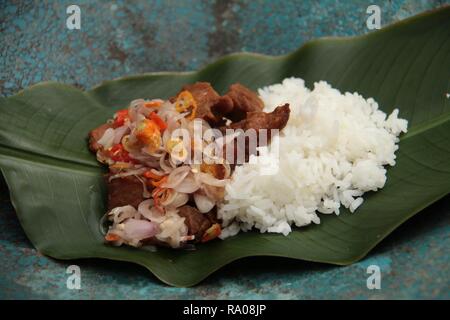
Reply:
M58 259L99 257L147 267L176 286L198 283L225 264L270 255L349 264L405 220L450 191L450 7L368 35L319 39L282 57L235 54L199 72L157 73L108 81L82 92L43 83L0 98L0 168L19 220L38 250ZM103 244L102 169L87 149L90 129L135 98L167 98L180 86L210 81L221 92L239 81L256 89L298 76L326 80L400 109L401 138L388 182L355 214L322 216L320 225L284 237L250 232L196 251L148 252Z

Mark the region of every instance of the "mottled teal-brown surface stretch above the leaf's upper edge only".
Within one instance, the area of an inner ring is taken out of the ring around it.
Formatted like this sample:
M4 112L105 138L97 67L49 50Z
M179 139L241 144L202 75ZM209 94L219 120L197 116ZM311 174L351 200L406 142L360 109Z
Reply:
M0 1L0 93L43 80L91 88L124 75L195 70L235 51L288 53L309 39L368 32L449 1ZM66 8L81 8L81 30Z

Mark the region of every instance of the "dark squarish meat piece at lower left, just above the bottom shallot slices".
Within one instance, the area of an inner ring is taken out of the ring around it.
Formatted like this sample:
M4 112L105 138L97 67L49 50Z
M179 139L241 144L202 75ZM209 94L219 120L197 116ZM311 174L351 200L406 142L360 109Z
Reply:
M115 178L109 181L106 176L108 187L108 211L116 207L131 205L137 209L144 201L143 187L141 181L135 176Z

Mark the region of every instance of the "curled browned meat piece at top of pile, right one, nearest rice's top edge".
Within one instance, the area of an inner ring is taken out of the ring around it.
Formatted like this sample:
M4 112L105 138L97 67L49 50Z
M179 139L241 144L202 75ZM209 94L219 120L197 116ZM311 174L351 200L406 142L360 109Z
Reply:
M245 119L248 112L261 112L264 103L252 90L240 83L232 84L228 92L214 107L232 121Z

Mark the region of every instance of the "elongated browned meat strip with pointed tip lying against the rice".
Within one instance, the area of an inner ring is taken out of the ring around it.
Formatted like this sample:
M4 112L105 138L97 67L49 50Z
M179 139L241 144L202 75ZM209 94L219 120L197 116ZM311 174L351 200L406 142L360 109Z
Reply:
M249 112L247 113L247 118L241 120L239 122L235 122L230 124L229 126L221 127L220 130L225 134L226 129L242 129L244 132L249 129L254 129L257 134L258 140L256 141L256 146L263 145L259 140L258 132L260 129L267 129L267 143L270 142L271 139L271 129L283 129L288 120L289 120L289 104L286 103L284 106L279 106L275 108L270 113L266 112ZM251 154L256 154L256 149L250 150L250 143L248 136L245 139L245 153L238 157L239 154L239 145L235 140L234 150L227 150L227 146L224 147L223 156L232 164L242 164L243 162L247 162ZM227 152L229 154L227 154ZM233 166L232 166L233 168Z

